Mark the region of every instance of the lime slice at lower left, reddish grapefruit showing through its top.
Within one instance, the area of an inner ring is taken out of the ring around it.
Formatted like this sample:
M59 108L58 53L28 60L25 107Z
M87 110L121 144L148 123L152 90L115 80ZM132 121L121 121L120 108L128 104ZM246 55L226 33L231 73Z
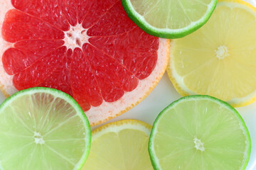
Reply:
M81 169L90 124L68 94L37 87L0 106L0 169Z

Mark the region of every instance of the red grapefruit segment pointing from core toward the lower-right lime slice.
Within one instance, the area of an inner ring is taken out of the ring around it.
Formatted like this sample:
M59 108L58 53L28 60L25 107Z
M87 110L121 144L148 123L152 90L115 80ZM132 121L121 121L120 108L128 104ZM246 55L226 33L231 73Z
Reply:
M113 57L91 45L84 45L82 50L90 61L92 69L94 69L97 84L100 86L105 101L117 101L124 95L124 91L132 91L136 88L137 78Z

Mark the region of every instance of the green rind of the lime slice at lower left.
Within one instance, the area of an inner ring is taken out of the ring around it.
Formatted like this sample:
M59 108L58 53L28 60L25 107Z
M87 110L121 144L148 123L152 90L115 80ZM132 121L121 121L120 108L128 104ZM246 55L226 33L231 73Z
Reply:
M70 95L65 94L63 91L59 91L57 89L46 88L46 87L33 87L31 89L25 89L25 90L16 92L14 95L10 96L9 98L6 98L6 100L3 103L1 103L1 105L0 105L0 114L1 114L1 111L4 110L4 108L9 106L9 103L11 103L12 101L15 100L15 98L17 98L19 96L23 96L25 94L34 94L35 92L36 93L48 93L48 94L51 94L53 96L58 96L58 98L63 98L63 100L68 101L71 104L71 106L74 106L76 113L81 118L81 120L83 120L86 131L87 131L86 134L85 134L85 136L86 136L85 142L86 142L86 145L87 145L86 149L85 149L86 152L82 155L80 161L74 167L74 170L82 169L82 166L85 164L86 159L87 159L87 157L90 153L90 146L91 146L90 123L89 123L89 120L87 119L84 111L82 111L82 108L75 101L75 99L72 98ZM1 167L1 162L0 162L0 168L3 169Z

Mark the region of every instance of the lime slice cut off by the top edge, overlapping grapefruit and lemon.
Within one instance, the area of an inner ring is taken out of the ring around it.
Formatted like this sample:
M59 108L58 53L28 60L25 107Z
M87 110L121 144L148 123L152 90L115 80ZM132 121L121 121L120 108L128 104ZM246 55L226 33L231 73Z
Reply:
M181 38L205 24L217 0L121 0L129 18L146 33Z

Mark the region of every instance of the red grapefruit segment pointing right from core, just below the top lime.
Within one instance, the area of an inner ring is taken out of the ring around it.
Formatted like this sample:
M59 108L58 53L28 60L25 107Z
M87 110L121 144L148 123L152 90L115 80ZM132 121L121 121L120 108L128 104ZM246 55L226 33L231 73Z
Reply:
M138 79L149 77L156 66L159 38L149 36L139 28L121 35L92 37L90 43L114 56Z

